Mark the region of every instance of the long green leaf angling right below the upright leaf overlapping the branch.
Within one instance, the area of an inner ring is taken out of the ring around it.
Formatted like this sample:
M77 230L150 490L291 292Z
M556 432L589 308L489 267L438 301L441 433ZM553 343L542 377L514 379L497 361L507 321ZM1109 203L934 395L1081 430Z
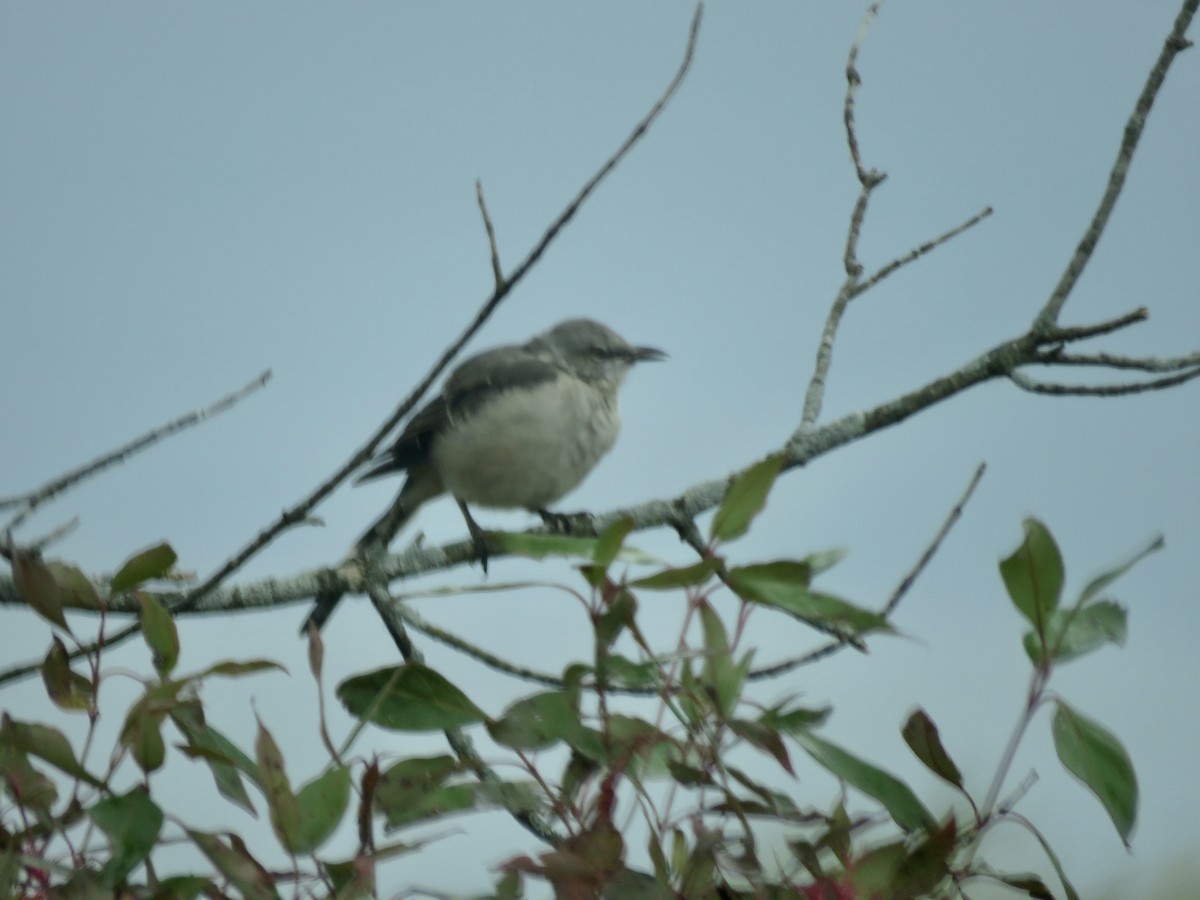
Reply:
M794 560L758 563L730 569L726 583L746 602L782 610L791 616L857 635L892 631L883 616L809 588L811 570Z

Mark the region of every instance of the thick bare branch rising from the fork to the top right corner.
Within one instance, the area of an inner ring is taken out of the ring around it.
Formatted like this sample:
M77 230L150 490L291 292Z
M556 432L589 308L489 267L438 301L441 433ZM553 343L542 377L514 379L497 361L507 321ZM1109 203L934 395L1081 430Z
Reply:
M1058 320L1058 313L1062 311L1063 304L1070 296L1070 292L1079 281L1079 276L1084 274L1084 268L1092 258L1100 235L1104 234L1109 217L1112 215L1112 209L1117 204L1117 198L1121 197L1121 191L1124 188L1126 174L1133 163L1133 155L1138 149L1142 130L1146 127L1150 109L1154 104L1154 98L1158 97L1158 91L1162 89L1163 82L1166 79L1166 72L1180 52L1190 46L1190 42L1187 40L1187 31L1198 6L1200 6L1200 0L1183 0L1183 7L1175 18L1171 34L1163 42L1163 49L1158 54L1158 60L1156 60L1154 67L1150 71L1146 84L1141 89L1141 95L1138 97L1138 103L1134 106L1133 113L1126 122L1124 136L1121 139L1121 146L1117 149L1117 158L1109 172L1109 184L1104 190L1104 196L1100 197L1100 204L1092 215L1092 221L1084 232L1079 246L1075 247L1070 262L1067 263L1066 271L1058 278L1058 283L1055 284L1045 306L1042 307L1042 311L1033 320L1033 331L1038 334L1054 328Z

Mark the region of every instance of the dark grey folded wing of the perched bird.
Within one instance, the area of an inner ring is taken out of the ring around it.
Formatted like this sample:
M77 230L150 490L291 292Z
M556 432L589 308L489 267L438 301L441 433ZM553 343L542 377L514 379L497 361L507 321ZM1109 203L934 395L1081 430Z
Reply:
M395 443L376 456L359 481L426 462L433 439L455 419L469 416L498 394L552 382L560 368L521 347L498 347L464 360L442 392L414 415Z

